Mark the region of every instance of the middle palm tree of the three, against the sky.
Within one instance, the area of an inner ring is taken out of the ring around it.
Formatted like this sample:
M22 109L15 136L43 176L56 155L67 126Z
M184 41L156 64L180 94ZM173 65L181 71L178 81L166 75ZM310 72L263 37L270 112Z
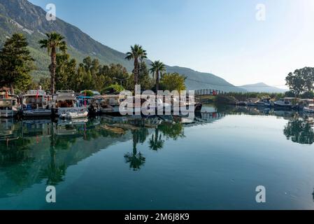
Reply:
M128 59L129 61L131 59L134 59L134 85L138 84L138 71L140 70L140 63L143 59L147 58L146 50L143 50L141 45L134 45L131 46L131 51L127 52L127 57L125 59Z

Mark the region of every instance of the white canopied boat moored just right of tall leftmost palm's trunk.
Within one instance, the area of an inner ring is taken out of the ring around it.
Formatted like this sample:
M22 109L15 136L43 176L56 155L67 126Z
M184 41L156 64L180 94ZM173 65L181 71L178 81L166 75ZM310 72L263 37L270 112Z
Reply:
M52 114L54 116L66 116L67 113L82 113L87 112L87 106L80 105L76 99L75 92L71 90L58 91L52 99Z

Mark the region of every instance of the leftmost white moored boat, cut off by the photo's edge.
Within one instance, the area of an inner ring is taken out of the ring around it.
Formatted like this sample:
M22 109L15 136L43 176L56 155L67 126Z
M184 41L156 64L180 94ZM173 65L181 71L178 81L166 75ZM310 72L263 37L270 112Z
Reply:
M13 118L20 111L19 100L15 96L0 99L0 118Z

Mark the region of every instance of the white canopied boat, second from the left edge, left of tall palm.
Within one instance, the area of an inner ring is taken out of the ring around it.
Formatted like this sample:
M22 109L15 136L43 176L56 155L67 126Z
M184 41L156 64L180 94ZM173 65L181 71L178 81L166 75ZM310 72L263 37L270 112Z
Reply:
M22 97L24 117L51 116L52 97L43 90L29 90Z

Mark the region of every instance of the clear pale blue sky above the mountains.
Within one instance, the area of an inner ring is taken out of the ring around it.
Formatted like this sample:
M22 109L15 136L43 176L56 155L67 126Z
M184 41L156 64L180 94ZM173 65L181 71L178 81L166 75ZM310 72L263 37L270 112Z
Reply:
M314 66L314 0L30 0L92 38L150 59L215 73L234 85L284 85ZM256 19L258 3L266 20Z

